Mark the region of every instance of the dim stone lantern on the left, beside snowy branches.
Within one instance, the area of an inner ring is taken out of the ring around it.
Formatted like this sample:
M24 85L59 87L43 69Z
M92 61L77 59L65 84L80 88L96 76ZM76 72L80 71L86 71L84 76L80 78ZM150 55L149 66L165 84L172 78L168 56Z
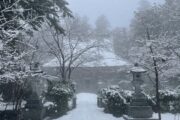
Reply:
M45 107L43 106L43 101L40 96L42 95L44 84L42 84L41 77L36 74L43 73L39 68L39 63L31 64L30 70L34 74L31 77L29 86L32 86L31 94L26 100L25 108L23 110L23 119L25 120L43 120L45 116ZM30 79L30 78L29 78Z

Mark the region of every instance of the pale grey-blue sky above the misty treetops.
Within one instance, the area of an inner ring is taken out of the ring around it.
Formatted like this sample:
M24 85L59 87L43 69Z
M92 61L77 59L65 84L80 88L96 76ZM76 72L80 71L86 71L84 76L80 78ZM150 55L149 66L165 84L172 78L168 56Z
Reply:
M69 8L94 23L100 15L106 15L112 27L128 27L140 0L67 0ZM149 0L163 3L164 0Z

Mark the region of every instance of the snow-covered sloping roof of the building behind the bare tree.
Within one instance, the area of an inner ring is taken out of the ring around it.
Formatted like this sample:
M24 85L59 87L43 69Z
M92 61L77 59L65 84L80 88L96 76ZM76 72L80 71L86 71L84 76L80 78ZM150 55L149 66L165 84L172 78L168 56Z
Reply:
M86 44L94 44L94 40L91 40L89 43L79 43L79 49L87 46ZM92 42L92 43L91 43ZM124 66L129 65L128 62L118 57L113 51L112 41L109 39L104 39L104 42L101 43L104 47L94 47L87 51L84 55L89 62L83 62L79 67L106 67L106 66ZM92 59L93 60L92 60ZM79 63L79 61L76 61ZM68 63L68 62L67 62ZM76 63L75 63L76 64ZM59 62L57 58L50 60L45 63L43 67L57 67Z

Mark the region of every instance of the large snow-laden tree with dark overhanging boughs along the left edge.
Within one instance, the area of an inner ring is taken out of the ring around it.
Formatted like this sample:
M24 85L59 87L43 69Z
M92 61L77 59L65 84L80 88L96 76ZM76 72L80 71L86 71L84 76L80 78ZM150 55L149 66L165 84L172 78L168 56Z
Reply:
M56 20L71 16L64 0L2 0L0 2L0 82L13 84L11 101L14 110L19 111L23 98L23 88L31 71L25 57L36 50L26 43L25 36L32 35L44 22L57 31L63 32Z

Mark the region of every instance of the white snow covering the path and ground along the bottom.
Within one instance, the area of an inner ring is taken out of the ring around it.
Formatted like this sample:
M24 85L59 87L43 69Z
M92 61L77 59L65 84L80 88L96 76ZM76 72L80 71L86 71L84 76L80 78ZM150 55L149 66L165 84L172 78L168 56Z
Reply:
M54 120L124 120L122 117L116 118L111 114L104 113L102 108L97 107L96 101L95 94L77 94L77 107L67 115ZM157 115L154 114L154 117ZM180 120L180 115L162 114L162 120Z

